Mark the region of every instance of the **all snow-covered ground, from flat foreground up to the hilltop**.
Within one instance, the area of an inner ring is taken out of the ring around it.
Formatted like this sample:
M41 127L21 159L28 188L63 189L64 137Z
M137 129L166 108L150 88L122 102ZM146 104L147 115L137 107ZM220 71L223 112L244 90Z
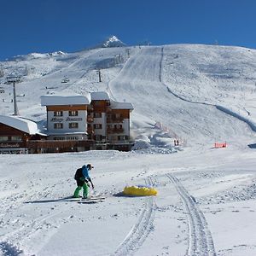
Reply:
M3 83L17 71L20 115L42 124L41 95L106 90L133 104L131 134L143 149L0 155L0 255L256 254L256 50L90 49L19 56L1 67L2 114L13 112L12 86ZM95 166L90 194L104 201L67 198L86 163ZM124 196L126 185L159 194Z

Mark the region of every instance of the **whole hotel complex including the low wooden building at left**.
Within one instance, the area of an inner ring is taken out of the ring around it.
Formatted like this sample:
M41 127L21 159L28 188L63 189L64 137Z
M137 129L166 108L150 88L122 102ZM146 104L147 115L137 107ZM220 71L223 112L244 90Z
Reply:
M92 92L86 96L45 95L41 96L41 105L46 107L47 113L44 134L30 120L2 116L0 145L4 152L14 153L20 149L22 153L91 149L128 151L133 145L131 103L113 101L106 92Z

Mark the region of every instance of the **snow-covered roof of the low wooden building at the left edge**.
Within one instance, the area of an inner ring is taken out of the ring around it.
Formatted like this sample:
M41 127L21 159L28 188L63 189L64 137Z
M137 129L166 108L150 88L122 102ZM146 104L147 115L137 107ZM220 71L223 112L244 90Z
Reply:
M17 130L24 131L28 134L41 134L38 130L38 124L29 119L18 116L0 115L0 123L9 125Z

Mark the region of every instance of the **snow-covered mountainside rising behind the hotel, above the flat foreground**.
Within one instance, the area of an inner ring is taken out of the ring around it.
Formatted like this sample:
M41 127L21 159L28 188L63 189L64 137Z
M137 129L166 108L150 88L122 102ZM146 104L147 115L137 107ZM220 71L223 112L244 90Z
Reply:
M113 42L119 40L113 37ZM26 95L18 98L20 114L38 121L45 119L41 95L105 90L113 99L133 104L131 133L150 145L166 145L166 137L190 145L237 143L238 138L249 143L256 130L254 49L196 44L110 47L29 55L3 61L1 67L3 114L13 109L12 88L3 84L9 74L20 73L17 95ZM96 69L102 70L101 83ZM68 83L61 83L64 78Z

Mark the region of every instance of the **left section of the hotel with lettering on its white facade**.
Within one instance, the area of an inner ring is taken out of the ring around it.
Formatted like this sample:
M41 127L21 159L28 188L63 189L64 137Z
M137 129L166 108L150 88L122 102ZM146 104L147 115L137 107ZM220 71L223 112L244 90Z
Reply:
M41 96L47 111L47 142L39 146L47 152L85 151L94 142L87 137L87 109L90 95L54 94Z

